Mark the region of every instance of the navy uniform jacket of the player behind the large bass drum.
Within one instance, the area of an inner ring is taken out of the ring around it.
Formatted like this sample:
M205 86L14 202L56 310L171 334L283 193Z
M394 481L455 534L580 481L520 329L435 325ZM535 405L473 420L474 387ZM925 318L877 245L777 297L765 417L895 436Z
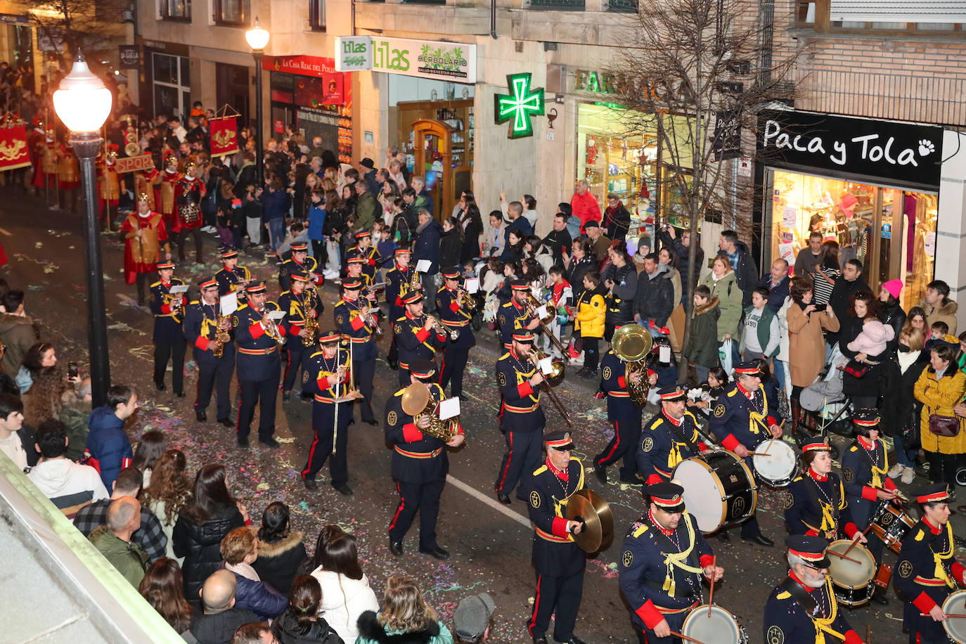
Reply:
M695 415L687 410L678 421L663 409L647 421L637 452L638 471L647 485L669 481L679 462L707 449L697 428Z

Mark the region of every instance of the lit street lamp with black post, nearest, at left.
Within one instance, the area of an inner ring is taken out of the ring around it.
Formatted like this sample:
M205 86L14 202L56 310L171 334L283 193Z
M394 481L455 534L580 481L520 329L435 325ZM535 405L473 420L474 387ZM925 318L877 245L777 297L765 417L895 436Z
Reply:
M104 279L100 263L97 186L94 159L98 155L100 127L111 111L110 90L95 76L84 56L77 52L71 73L54 92L54 110L61 122L71 130L70 143L80 159L84 183L84 259L87 265L87 324L91 353L91 396L95 407L107 404L111 386L110 359L107 352L107 316L104 310Z

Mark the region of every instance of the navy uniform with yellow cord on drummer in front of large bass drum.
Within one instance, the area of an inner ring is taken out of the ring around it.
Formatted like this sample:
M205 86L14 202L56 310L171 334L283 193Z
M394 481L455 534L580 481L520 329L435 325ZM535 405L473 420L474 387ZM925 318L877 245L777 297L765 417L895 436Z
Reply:
M648 644L675 641L656 637L653 629L667 620L670 630L681 631L688 614L702 603L703 569L711 557L711 547L687 511L673 530L663 528L650 511L631 525L621 546L618 578L631 621L646 633Z

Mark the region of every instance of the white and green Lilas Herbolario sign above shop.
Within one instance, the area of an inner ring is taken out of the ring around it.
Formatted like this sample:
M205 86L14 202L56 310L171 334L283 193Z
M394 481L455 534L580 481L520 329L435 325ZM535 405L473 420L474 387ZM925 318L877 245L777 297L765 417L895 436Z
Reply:
M353 36L335 39L335 69L384 71L456 83L476 82L476 45Z

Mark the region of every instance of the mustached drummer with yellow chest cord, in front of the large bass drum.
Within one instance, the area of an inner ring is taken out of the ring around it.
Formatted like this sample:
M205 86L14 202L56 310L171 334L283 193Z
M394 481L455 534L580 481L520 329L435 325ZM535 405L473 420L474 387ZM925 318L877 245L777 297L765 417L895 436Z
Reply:
M647 644L680 641L684 620L701 600L701 581L717 581L725 569L712 566L711 546L684 507L684 488L662 481L644 489L647 513L631 526L621 546L620 592L631 605L631 621ZM642 637L642 638L641 638Z

